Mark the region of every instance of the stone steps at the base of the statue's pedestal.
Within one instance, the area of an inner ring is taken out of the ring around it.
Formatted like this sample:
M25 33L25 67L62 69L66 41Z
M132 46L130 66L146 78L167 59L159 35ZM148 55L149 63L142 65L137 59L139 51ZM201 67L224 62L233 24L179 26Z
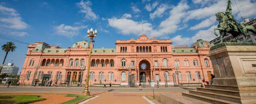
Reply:
M213 104L252 104L256 102L256 91L239 90L241 89L237 86L205 85L205 88L189 90L189 92L183 92L182 95Z

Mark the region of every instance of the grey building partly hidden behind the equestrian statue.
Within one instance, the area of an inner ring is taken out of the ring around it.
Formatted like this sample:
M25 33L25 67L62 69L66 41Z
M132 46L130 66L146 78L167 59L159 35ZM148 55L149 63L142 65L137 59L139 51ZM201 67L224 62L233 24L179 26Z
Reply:
M240 23L244 26L252 25L256 28L256 18L252 18L250 20L248 18L244 18L244 21ZM247 42L256 42L256 34L252 32L248 32L246 36L248 37ZM237 40L235 40L235 38L231 34L227 34L222 38L222 40L223 42L244 42L245 37L243 35L239 35L237 36ZM212 42L213 44L217 44L220 41L221 41L220 37L217 37L211 40L210 42Z

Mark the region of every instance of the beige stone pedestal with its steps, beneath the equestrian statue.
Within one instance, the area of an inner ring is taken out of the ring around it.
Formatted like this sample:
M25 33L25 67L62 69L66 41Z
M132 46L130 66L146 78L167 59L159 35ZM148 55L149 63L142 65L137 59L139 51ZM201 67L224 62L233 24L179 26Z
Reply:
M213 85L183 93L211 103L256 103L256 43L224 42L210 48Z

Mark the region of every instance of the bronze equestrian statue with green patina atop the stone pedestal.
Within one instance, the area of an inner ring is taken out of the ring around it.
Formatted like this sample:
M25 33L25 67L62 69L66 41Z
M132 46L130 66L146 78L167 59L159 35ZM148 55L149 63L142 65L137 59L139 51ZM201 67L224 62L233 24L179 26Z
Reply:
M237 36L244 35L245 40L247 42L248 37L246 36L247 32L250 31L256 34L256 29L253 26L244 26L238 22L236 22L234 16L232 15L231 1L228 1L228 6L225 13L218 12L215 14L216 20L219 21L218 28L214 28L214 34L218 36L216 30L220 32L221 42L222 37L226 36L227 33L230 33L234 38Z

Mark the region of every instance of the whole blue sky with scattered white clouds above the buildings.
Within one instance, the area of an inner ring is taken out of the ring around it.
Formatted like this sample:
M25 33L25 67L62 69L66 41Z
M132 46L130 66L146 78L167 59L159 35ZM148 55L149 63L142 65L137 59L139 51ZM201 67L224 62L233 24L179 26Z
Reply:
M197 39L216 38L215 13L224 12L228 0L0 0L0 35L27 43L60 43L67 48L89 40L86 31L98 30L96 48L115 48L116 39L171 39L174 46L191 45ZM256 0L232 0L233 15L256 17ZM241 11L238 13L237 7ZM143 19L144 31L141 21ZM10 41L0 38L0 45ZM27 44L15 42L6 63L23 66ZM0 51L0 62L5 52Z

